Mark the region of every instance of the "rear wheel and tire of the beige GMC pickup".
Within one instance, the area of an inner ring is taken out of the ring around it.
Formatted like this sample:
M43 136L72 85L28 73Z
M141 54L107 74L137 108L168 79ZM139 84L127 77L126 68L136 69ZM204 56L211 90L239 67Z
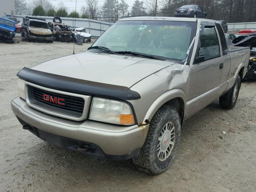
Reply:
M241 79L238 75L236 81L230 90L220 97L220 106L223 109L232 109L236 105L239 90L241 86Z

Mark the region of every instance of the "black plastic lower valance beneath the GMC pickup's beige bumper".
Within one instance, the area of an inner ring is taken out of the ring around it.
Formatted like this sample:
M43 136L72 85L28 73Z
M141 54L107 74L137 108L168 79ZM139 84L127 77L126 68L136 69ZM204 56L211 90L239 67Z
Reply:
M107 159L116 160L116 161L127 160L130 158L133 158L133 157L137 156L140 152L140 149L137 149L133 152L130 152L130 153L124 154L124 155L106 154L102 151L102 149L99 146L97 146L95 144L83 142L83 141L79 141L79 140L74 140L74 139L58 136L58 135L55 135L55 134L52 134L49 132L45 132L43 130L40 130L34 126L27 124L18 116L17 116L17 118L18 118L19 122L22 124L23 129L29 130L34 135L36 135L38 138L45 140L48 143L55 144L57 146L65 148L65 149L74 150L74 151L78 151L78 152L81 152L84 154L93 155L93 156L97 156L100 158L107 158ZM83 151L83 150L80 150L80 148L86 148L86 150Z

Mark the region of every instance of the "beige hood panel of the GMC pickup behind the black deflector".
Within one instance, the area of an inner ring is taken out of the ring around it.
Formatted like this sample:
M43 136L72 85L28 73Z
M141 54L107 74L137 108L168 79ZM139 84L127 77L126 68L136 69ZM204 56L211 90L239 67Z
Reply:
M85 52L50 60L32 69L82 80L131 87L143 78L172 64L175 63L141 57Z

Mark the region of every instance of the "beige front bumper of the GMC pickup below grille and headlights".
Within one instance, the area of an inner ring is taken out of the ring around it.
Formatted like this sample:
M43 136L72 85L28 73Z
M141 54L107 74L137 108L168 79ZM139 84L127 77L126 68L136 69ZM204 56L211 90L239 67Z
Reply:
M112 156L114 157L112 159L124 160L136 156L148 133L149 125L118 126L90 120L76 122L51 116L29 107L26 101L20 97L15 98L11 105L14 114L22 122L60 138L97 146L104 155L94 155L100 157L110 158ZM44 139L50 142L49 139Z

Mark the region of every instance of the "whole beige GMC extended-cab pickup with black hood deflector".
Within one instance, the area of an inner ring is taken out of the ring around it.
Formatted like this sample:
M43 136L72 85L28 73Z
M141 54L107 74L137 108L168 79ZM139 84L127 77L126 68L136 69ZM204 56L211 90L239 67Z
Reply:
M250 48L228 47L218 22L124 18L81 54L23 68L12 110L58 146L148 174L174 159L184 120L219 98L235 106Z

